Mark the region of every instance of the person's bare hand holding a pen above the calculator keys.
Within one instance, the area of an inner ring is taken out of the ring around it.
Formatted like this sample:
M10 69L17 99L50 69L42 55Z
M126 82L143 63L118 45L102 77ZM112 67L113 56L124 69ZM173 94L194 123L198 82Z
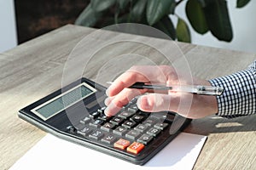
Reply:
M207 80L193 77L193 85L211 86ZM215 96L177 93L172 91L157 92L148 89L128 88L135 82L149 84L191 85L188 81L177 76L172 66L141 65L133 66L118 77L108 88L108 98L105 100L107 108L105 114L113 116L124 105L137 95L143 94L137 99L137 106L142 111L174 111L188 118L201 118L218 112L218 104ZM145 94L148 93L148 94Z

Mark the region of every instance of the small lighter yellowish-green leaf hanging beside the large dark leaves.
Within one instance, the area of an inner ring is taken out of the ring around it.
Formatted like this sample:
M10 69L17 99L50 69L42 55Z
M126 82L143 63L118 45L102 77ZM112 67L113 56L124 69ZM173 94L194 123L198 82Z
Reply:
M178 18L178 20L177 20L176 33L177 33L177 41L191 42L189 26L181 18Z

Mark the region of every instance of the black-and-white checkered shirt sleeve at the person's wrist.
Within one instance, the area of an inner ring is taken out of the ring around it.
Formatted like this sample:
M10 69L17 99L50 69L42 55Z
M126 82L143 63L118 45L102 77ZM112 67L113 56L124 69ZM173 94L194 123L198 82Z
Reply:
M218 116L232 118L256 113L256 60L247 70L209 80L214 87L223 87L217 96Z

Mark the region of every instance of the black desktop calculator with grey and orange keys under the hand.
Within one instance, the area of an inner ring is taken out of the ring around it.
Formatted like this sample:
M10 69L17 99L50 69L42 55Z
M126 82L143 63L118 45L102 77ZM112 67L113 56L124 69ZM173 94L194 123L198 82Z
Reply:
M138 165L149 161L191 121L170 111L140 111L137 97L115 116L106 116L105 91L83 77L21 109L19 116L61 139Z

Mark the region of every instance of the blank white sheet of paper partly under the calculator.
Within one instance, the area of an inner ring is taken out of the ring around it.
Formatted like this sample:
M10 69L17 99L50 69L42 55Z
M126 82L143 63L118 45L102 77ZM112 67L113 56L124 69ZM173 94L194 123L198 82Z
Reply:
M145 165L134 165L47 134L10 170L16 169L192 169L207 137L180 133Z

